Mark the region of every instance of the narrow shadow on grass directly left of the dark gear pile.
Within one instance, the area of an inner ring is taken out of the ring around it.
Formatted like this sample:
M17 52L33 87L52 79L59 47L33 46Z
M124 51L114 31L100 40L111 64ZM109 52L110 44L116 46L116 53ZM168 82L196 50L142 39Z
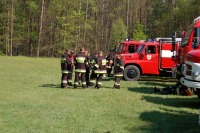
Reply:
M144 93L144 94L154 94L153 87L135 87L135 88L128 87L128 91Z

